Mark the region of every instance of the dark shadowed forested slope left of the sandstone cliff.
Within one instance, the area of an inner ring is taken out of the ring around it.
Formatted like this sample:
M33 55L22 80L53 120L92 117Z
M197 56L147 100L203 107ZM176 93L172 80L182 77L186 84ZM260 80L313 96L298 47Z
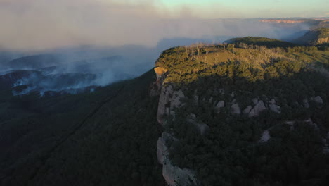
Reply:
M0 123L0 185L164 185L158 99L148 94L154 76L87 94L1 101L22 111Z

